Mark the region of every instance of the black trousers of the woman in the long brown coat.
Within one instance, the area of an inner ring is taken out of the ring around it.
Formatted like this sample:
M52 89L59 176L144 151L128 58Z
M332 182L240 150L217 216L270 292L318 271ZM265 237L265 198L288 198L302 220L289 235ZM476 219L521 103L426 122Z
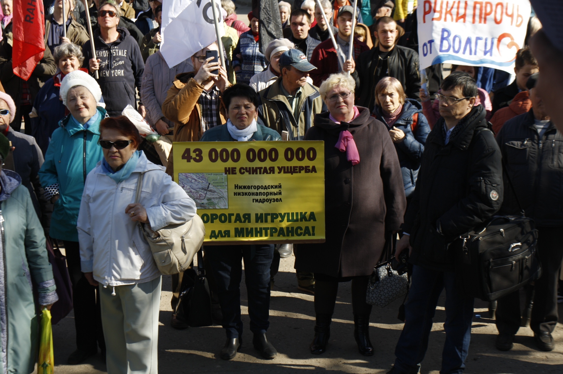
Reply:
M368 289L369 276L335 278L325 274L315 273L315 314L334 313L338 283L352 281L352 311L355 315L369 316L372 305L365 302L365 292Z

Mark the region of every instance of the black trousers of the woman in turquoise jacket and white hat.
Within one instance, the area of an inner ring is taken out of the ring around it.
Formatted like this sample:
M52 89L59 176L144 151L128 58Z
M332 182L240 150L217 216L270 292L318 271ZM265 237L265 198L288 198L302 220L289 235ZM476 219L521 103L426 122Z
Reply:
M74 327L76 346L83 352L95 352L100 346L105 351L104 331L97 287L88 283L80 266L78 242L65 241L66 265L73 286Z

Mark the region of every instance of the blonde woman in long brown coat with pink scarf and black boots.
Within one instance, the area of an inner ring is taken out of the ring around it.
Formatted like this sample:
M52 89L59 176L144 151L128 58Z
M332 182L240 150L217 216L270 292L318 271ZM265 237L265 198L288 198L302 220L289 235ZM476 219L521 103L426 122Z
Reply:
M315 116L305 140L324 141L326 242L298 244L295 268L315 274L315 337L312 354L325 352L339 282L352 281L354 337L361 354L373 355L365 303L368 278L405 213L397 152L369 109L354 106L354 78L331 74L319 92L328 112Z

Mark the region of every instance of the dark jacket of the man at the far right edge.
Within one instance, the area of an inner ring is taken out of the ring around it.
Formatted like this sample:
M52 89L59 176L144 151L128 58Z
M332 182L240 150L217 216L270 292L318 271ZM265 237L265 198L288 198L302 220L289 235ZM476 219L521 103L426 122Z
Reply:
M510 181L526 216L538 226L563 225L563 134L553 123L539 138L534 113L508 120L497 134ZM501 211L520 211L506 174Z

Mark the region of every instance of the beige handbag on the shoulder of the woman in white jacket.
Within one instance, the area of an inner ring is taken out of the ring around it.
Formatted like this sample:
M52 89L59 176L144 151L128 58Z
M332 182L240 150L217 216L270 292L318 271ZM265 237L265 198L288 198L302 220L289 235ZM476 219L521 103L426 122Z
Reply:
M144 175L139 175L135 202L141 196ZM138 226L149 243L154 262L165 275L177 274L189 268L205 238L205 227L197 214L186 223L171 224L157 231L153 231L149 223L139 222Z

